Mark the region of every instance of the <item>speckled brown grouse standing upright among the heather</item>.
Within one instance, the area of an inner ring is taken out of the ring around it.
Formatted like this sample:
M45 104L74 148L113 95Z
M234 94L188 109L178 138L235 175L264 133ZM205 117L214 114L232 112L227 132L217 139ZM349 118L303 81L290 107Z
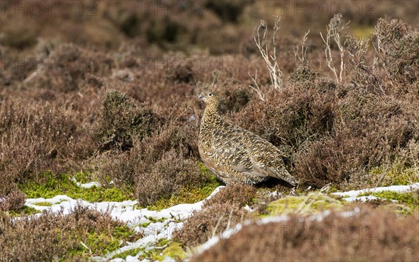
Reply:
M219 96L206 89L199 99L207 104L200 124L200 157L216 177L226 184L257 184L276 177L295 185L277 147L267 140L224 122L219 112Z

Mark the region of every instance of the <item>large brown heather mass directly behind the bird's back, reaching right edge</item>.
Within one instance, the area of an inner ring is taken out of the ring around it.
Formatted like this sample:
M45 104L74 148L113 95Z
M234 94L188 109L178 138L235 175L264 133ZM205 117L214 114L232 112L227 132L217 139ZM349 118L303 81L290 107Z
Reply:
M374 167L399 159L408 168L415 164L405 153L418 141L412 106L417 101L414 94L337 85L297 65L283 89L271 91L266 101L251 101L229 119L279 147L302 186L366 187L377 182L366 175Z

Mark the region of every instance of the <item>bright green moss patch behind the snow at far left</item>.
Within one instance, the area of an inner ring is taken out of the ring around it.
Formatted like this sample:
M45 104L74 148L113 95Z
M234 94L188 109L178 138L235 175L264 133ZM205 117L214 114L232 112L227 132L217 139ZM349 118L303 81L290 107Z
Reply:
M52 198L57 195L66 195L71 198L82 198L89 202L100 201L125 201L133 199L129 191L122 191L115 187L105 189L103 187L91 187L84 189L78 187L66 174L54 175L43 173L41 182L34 180L20 184L20 189L24 191L27 198Z

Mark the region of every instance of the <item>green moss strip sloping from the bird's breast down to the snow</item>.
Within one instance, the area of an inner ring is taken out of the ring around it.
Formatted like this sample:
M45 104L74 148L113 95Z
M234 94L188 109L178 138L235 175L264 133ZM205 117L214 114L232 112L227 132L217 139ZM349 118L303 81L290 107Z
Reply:
M171 196L169 199L160 199L154 205L147 206L147 208L149 210L163 210L182 203L196 203L210 196L214 189L222 184L207 170L203 163L200 163L200 170L203 175L209 177L207 182L201 184L199 187L183 188L179 193Z

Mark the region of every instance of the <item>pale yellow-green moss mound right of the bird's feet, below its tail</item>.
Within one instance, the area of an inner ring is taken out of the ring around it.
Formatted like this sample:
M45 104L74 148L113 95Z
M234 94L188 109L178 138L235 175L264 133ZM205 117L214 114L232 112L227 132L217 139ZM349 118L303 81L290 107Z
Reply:
M322 193L312 192L307 196L286 196L267 205L268 215L289 214L298 212L302 214L318 213L330 208L340 209L344 203Z

